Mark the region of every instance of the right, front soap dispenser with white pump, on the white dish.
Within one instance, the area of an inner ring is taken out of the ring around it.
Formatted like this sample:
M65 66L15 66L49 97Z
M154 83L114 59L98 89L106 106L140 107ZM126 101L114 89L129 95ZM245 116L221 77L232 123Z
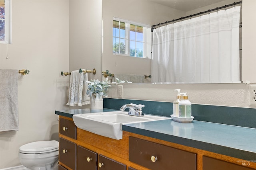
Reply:
M179 103L179 117L189 118L191 117L191 102L188 100L187 93L180 94L183 94L183 96Z

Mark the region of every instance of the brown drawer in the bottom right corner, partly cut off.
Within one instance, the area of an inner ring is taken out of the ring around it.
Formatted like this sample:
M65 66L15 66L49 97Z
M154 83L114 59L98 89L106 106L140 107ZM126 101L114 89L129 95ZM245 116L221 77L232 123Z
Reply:
M203 156L203 170L252 170L246 166L250 165L249 162L244 162L244 166L225 162L208 156Z

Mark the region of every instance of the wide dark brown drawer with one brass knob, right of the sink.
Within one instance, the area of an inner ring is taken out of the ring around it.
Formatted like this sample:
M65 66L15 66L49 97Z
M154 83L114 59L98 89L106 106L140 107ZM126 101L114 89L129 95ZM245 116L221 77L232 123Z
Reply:
M196 170L196 154L129 137L129 160L152 170Z

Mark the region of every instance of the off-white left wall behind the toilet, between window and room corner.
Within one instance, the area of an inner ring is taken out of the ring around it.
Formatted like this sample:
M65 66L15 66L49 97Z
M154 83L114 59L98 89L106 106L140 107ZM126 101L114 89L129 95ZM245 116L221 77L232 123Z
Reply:
M21 145L58 140L54 113L68 102L68 78L60 76L69 70L68 54L69 0L12 0L12 44L9 59L0 44L0 69L30 73L18 80L20 130L0 134L0 169L20 165Z

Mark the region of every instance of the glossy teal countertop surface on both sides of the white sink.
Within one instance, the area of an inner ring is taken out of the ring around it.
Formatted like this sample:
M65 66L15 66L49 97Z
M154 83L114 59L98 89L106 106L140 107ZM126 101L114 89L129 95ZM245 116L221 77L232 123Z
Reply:
M71 109L55 111L55 114L72 117L80 113L114 111L114 109L93 110ZM256 161L256 129L192 121L179 123L172 119L131 123L122 125L123 131L153 137L156 139L232 156L238 160Z

